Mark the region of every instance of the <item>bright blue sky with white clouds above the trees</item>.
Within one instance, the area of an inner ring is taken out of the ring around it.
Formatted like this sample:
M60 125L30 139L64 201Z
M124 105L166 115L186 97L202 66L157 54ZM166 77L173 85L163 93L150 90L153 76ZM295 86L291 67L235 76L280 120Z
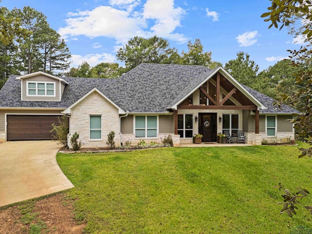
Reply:
M279 31L260 18L269 0L2 0L0 6L30 6L42 12L72 54L71 66L118 62L116 52L135 36L168 39L179 53L200 39L223 67L243 51L259 71L288 58L302 38ZM122 63L121 63L122 65Z

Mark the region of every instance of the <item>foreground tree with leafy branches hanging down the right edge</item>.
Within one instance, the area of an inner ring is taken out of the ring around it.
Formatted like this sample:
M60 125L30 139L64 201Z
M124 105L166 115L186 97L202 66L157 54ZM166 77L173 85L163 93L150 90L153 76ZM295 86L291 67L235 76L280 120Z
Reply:
M310 0L272 0L271 6L268 7L269 12L263 13L261 17L266 18L264 21L271 21L269 28L273 25L275 28L281 30L284 26L291 28L291 33L302 33L306 35L306 40L309 45L301 47L298 51L291 51L292 65L295 67L300 67L304 64L303 68L295 74L295 84L299 87L298 90L291 96L285 95L280 102L276 103L280 105L281 103L296 103L299 100L305 105L303 111L305 114L298 115L298 117L293 121L294 128L299 132L302 137L305 137L307 142L310 143L310 147L307 149L299 149L301 155L312 156L312 7ZM300 22L298 22L300 20ZM298 22L298 24L297 24ZM304 22L301 24L301 22ZM300 25L299 27L297 25ZM284 207L282 212L287 212L289 216L292 217L292 213L296 214L294 211L294 205L299 203L298 198L289 195L289 190L283 189L285 194L284 197ZM307 195L309 192L304 190L303 192L299 190L297 193L292 193L294 195L304 194ZM299 203L300 204L300 203ZM305 208L312 213L312 207L305 206Z

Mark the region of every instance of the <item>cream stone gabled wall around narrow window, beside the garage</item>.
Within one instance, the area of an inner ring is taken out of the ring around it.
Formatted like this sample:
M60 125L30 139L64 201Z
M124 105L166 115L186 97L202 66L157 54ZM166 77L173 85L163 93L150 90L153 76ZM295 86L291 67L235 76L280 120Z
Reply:
M102 139L100 140L89 139L90 115L102 116ZM72 109L70 117L70 134L72 135L75 132L79 133L78 140L81 140L81 148L107 147L107 134L110 131L115 132L116 136L114 140L116 146L119 146L120 134L118 109L97 92L90 94ZM68 136L68 139L70 139L71 135ZM72 148L70 141L68 141L68 145Z

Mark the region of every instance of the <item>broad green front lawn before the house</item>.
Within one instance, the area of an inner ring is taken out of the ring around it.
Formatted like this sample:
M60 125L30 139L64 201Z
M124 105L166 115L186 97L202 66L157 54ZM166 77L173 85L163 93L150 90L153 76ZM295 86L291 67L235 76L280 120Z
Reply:
M87 233L287 234L312 228L302 208L279 215L279 182L312 191L312 161L297 146L161 148L58 154ZM302 201L312 204L312 198Z

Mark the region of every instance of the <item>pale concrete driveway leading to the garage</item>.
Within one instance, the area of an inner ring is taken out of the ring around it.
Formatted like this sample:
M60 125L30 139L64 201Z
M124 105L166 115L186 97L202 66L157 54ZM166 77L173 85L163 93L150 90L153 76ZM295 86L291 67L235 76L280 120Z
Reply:
M0 143L0 206L74 187L60 170L52 140Z

